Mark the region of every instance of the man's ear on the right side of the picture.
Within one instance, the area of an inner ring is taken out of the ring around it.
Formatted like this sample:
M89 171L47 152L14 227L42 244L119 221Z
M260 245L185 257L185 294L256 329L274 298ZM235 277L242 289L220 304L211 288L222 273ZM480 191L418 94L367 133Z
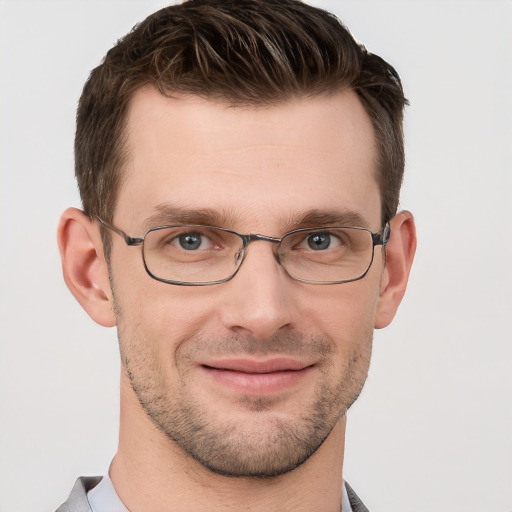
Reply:
M391 236L386 245L386 266L382 274L375 328L387 327L393 320L407 287L414 253L416 228L414 217L403 211L390 221Z

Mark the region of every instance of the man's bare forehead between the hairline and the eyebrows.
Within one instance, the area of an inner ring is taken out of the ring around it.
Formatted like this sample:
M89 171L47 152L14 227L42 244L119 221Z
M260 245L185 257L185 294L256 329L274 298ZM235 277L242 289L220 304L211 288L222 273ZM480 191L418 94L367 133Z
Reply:
M235 107L148 87L132 100L127 142L115 213L126 227L165 205L218 210L250 230L312 210L379 223L373 128L351 91Z

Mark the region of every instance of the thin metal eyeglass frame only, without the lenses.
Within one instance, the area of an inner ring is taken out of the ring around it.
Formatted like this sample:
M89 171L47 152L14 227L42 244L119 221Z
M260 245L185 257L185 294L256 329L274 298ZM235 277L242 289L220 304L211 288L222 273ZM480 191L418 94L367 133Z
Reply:
M266 235L258 235L258 234L243 235L243 234L237 233L236 231L232 231L231 229L220 228L220 227L217 227L217 226L205 226L205 225L186 224L187 227L192 227L192 228L193 227L197 227L197 228L213 228L213 229L216 229L216 230L219 230L219 231L225 231L226 233L231 233L233 235L238 236L242 240L242 248L241 248L242 258L241 258L240 263L238 264L237 268L235 269L235 271L230 276L226 277L225 279L219 279L217 281L189 282L189 281L173 281L173 280L170 280L170 279L163 279L161 277L158 277L158 276L154 275L151 272L151 270L148 268L147 264L146 264L146 259L144 257L144 248L143 248L144 240L145 240L146 236L149 233L151 233L152 231L159 231L161 229L167 229L167 228L182 227L183 225L156 226L154 228L148 229L144 233L144 235L142 235L142 236L130 236L130 235L126 234L122 229L116 228L115 226L113 226L112 224L104 221L103 219L101 219L97 215L95 217L98 219L98 221L100 222L100 224L102 226L104 226L105 228L107 228L110 231L113 231L114 233L119 235L124 240L124 242L126 243L127 246L137 246L137 245L142 246L142 251L141 252L142 252L142 261L143 261L143 264L144 264L144 269L146 270L147 274L151 278L155 279L156 281L160 281L162 283L174 284L174 285L178 285L178 286L209 286L209 285L213 285L213 284L222 284L222 283L226 283L227 281L230 281L231 279L233 279L233 277L236 276L236 274L240 270L240 267L242 266L242 263L244 262L245 255L247 254L247 247L252 242L264 241L264 242L271 242L271 243L274 243L274 244L279 244L279 243L281 243L283 238L285 238L288 235L294 234L294 233L300 233L300 232L303 232L303 231L311 231L311 230L315 230L315 229L325 230L325 229L334 229L334 228L337 228L337 229L339 229L339 228L360 229L360 230L367 231L368 233L370 233L370 235L372 237L372 257L371 257L370 263L368 264L367 269L360 276L355 277L353 279L344 279L344 280L341 280L341 281L310 281L310 280L307 280L307 279L300 279L300 278L297 278L295 276L292 276L288 272L286 267L284 267L281 264L281 262L276 257L277 262L279 263L279 265L282 266L282 268L290 276L290 278L292 278L295 281L299 281L301 283L322 285L322 284L343 284L343 283L350 283L350 282L353 282L353 281L359 281L360 279L363 279L363 277L366 276L366 274L368 273L368 271L370 270L370 268L371 268L371 266L373 264L373 259L374 259L374 255L375 255L375 246L376 245L382 245L382 247L385 248L386 244L389 241L389 237L391 235L391 226L389 225L389 222L386 222L386 224L384 225L382 230L377 232L377 233L373 233L372 231L370 231L367 228L362 228L362 227L357 227L357 226L322 226L322 227L311 227L311 228L294 229L293 231L289 231L288 233L285 233L281 238L277 238L277 237L273 237L273 236L266 236Z

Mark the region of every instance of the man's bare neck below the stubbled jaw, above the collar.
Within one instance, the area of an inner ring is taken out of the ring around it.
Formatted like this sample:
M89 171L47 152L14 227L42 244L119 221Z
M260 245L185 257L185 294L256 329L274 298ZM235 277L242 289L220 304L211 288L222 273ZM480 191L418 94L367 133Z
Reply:
M123 379L119 448L110 477L131 512L339 512L344 438L345 418L342 418L304 464L284 475L273 478L217 475L188 456L153 425Z

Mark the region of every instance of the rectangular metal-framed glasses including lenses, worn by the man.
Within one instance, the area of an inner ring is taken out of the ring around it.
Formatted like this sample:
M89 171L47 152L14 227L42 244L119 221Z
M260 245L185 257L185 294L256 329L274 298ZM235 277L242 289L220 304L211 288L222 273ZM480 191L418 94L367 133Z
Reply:
M386 246L390 226L372 233L360 227L334 226L295 229L281 238L241 235L225 228L201 225L158 226L141 237L127 235L100 219L126 245L142 246L146 272L157 281L205 286L232 279L249 244L275 244L274 256L287 274L309 284L341 284L362 279L370 269L376 245Z

